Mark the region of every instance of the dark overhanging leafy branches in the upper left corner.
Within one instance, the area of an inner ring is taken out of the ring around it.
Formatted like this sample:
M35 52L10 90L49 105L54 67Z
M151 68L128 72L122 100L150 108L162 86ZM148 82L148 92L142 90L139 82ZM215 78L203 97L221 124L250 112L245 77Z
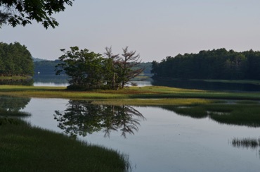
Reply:
M32 20L48 27L58 26L53 13L65 11L65 5L72 6L74 0L0 0L0 27L6 23L16 25L32 24Z

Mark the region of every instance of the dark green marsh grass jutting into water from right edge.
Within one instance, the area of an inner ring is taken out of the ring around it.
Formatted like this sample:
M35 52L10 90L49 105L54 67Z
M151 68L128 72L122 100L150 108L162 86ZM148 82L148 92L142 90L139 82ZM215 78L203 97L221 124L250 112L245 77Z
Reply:
M162 106L181 116L209 117L218 123L260 127L260 104L197 104L193 106Z

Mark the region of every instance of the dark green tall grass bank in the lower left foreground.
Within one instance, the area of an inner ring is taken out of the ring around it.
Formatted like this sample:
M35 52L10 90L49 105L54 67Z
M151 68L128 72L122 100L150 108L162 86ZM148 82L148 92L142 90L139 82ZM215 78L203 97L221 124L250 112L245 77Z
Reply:
M3 121L4 118L1 118ZM127 171L126 156L13 118L0 125L0 171Z

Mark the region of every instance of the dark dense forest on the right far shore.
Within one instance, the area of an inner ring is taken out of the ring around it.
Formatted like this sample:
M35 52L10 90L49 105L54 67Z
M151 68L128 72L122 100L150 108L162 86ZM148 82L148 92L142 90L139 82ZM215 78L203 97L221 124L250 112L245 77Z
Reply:
M151 72L155 78L260 80L260 51L213 49L178 54L160 63L152 61Z

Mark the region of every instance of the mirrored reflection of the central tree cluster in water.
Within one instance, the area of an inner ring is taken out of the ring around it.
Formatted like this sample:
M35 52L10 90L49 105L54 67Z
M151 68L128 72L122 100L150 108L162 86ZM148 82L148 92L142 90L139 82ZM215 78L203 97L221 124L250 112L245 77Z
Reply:
M104 137L110 137L113 130L120 130L126 137L127 133L138 131L139 119L145 120L132 106L96 105L83 100L70 100L65 111L55 113L58 127L73 137L100 130L105 133Z

